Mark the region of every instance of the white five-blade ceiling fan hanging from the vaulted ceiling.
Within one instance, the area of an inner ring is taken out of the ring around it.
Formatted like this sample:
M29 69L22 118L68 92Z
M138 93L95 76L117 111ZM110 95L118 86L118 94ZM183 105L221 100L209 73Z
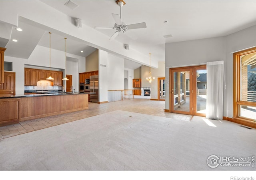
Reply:
M116 0L116 4L118 4L118 6L120 6L120 16L118 14L112 14L114 20L115 20L115 24L114 27L94 27L95 29L115 29L116 32L114 32L114 34L110 37L109 40L116 38L116 36L119 34L119 32L125 33L127 30L130 29L139 29L139 28L146 28L146 23L145 22L141 22L141 23L137 23L137 24L125 24L124 22L122 22L122 6L124 6L124 4L126 4L123 0Z

